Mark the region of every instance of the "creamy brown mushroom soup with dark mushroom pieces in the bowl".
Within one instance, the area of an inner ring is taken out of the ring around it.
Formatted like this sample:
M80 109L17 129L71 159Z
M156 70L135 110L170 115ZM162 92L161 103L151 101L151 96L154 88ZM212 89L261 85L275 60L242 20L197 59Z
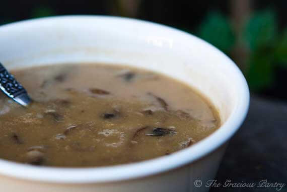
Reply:
M12 71L33 103L0 93L0 158L87 167L169 155L216 131L213 106L189 86L117 65L50 65Z

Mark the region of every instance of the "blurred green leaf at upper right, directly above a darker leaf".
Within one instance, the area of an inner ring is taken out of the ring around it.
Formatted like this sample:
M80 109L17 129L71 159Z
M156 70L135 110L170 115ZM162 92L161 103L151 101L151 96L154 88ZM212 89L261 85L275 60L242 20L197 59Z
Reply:
M261 11L254 14L247 22L244 38L251 50L271 44L276 38L277 23L273 11Z

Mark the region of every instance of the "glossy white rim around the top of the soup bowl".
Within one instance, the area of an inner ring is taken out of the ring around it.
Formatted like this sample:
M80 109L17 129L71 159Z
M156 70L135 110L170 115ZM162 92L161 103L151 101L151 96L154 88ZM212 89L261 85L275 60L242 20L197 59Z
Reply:
M237 74L241 96L239 97L236 109L231 113L226 122L220 127L219 130L208 136L207 138L201 140L200 142L194 144L190 148L186 148L175 152L169 156L159 157L151 160L146 160L142 162L122 164L115 166L106 167L92 167L92 168L58 168L58 167L37 167L16 162L11 162L7 160L0 159L0 174L35 180L44 182L55 182L55 183L98 183L98 182L112 182L112 181L122 181L128 179L135 179L139 177L146 177L154 174L159 174L166 172L183 165L189 164L198 160L199 158L206 156L212 151L216 150L227 142L239 129L240 125L244 121L247 111L249 108L249 89L247 82L236 66L236 64L223 52L221 52L216 47L210 45L209 43L201 40L186 32L180 31L178 29L167 27L165 25L156 24L153 22L142 21L137 19L129 19L114 16L54 16L40 19L31 19L26 21L15 22L12 24L3 25L0 29L5 27L19 27L23 25L37 25L39 22L53 21L66 19L69 21L77 19L95 19L95 20L106 20L107 22L131 22L133 25L145 25L151 28L157 27L164 30L173 31L177 36L189 36L196 39L198 43L205 47L211 47L212 51L221 57L224 57L227 61L223 65L229 65L233 68L234 73ZM190 155L192 154L192 155Z

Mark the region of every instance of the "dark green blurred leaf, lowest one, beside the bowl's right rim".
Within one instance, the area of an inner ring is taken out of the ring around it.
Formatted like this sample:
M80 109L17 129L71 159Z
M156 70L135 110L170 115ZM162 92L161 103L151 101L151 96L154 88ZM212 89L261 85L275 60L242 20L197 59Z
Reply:
M274 80L274 57L270 50L258 50L250 55L246 79L252 91L270 87Z

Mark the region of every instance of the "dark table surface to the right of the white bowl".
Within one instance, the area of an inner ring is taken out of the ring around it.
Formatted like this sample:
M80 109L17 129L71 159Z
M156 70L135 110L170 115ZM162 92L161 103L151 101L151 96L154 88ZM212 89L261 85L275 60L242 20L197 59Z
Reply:
M287 103L251 96L241 129L231 139L217 183L287 184ZM275 187L211 187L215 191L277 191ZM279 191L287 191L285 185Z

